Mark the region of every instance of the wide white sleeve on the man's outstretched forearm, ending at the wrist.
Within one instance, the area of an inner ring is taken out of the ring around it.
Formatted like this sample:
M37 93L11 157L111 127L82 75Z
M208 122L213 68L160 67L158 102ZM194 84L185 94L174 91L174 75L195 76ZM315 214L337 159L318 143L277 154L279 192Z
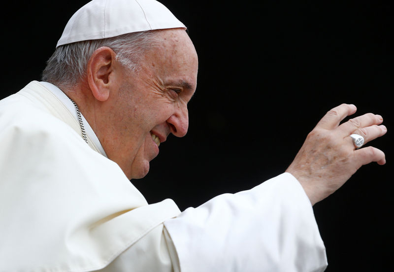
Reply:
M318 272L327 267L312 205L290 173L188 208L164 226L181 272Z

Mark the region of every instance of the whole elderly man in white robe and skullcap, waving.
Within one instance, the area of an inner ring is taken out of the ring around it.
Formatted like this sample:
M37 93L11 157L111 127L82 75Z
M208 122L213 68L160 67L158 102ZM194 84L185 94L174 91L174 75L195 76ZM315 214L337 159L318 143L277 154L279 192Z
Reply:
M312 205L361 165L379 115L342 104L286 173L180 212L130 183L188 130L197 53L155 0L93 0L43 72L0 102L0 271L324 271Z

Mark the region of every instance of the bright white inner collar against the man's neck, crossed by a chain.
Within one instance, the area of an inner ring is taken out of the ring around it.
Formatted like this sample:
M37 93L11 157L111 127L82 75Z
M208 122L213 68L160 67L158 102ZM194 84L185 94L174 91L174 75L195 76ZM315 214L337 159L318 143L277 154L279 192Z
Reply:
M53 93L68 109L68 111L74 116L75 120L78 121L78 116L77 112L75 110L74 104L71 102L71 100L66 96L65 93L52 83L46 82L46 81L40 81L42 85L44 85L51 93ZM99 138L96 136L95 132L93 131L92 127L89 125L88 121L86 121L85 117L82 115L82 122L85 127L85 132L88 135L88 137L92 140L92 143L94 146L97 148L97 150L100 151L102 155L107 157L107 154L105 154L104 148L102 148L102 145L99 141ZM108 157L107 157L108 158Z

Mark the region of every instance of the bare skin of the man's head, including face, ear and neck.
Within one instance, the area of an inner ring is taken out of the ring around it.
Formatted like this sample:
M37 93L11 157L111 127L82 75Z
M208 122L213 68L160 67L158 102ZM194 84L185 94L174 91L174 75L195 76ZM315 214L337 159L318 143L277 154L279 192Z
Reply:
M187 104L197 86L197 53L186 31L156 33L160 45L144 53L137 71L122 66L111 48L100 47L90 58L80 91L67 93L108 158L129 179L148 173L169 134L185 136Z

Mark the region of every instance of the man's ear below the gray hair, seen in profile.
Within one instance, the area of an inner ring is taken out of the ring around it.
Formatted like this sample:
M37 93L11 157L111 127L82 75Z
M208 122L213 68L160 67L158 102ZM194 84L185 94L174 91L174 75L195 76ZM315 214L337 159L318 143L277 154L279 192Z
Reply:
M87 80L93 96L101 102L108 99L113 85L115 52L106 46L100 47L89 59Z

